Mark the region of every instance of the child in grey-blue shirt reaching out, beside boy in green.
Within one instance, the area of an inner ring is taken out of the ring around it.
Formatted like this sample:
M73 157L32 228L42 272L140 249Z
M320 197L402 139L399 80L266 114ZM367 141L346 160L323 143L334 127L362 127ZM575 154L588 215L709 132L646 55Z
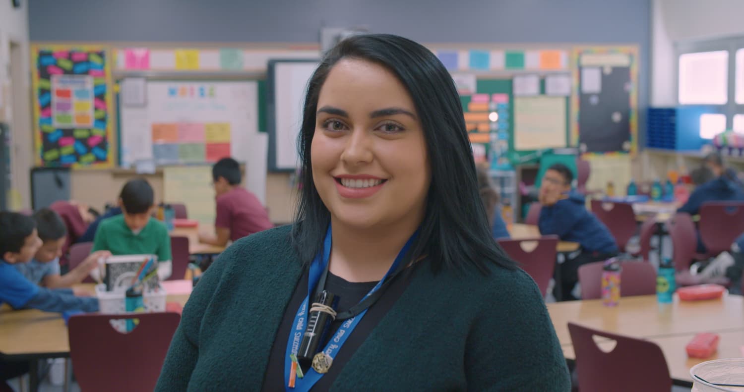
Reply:
M42 208L33 213L36 221L36 231L42 240L42 245L36 251L28 263L16 263L13 266L31 282L48 289L71 287L80 283L88 276L90 271L98 266L100 257L109 257L109 251L93 252L83 263L68 273L60 274L60 256L62 248L67 239L67 228L65 222L51 211L50 208Z

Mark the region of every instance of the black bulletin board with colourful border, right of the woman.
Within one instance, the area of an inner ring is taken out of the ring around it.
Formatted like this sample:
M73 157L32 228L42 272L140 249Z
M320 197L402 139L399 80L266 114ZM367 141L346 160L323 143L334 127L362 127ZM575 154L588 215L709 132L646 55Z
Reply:
M571 136L582 152L634 153L638 143L636 48L578 48Z

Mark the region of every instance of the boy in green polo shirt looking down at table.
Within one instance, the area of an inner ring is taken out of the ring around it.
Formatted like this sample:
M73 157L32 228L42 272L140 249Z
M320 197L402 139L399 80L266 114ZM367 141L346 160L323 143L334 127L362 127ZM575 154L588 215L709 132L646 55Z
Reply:
M170 277L170 235L162 222L153 219L153 187L145 179L132 179L121 188L121 215L103 219L98 225L92 251L123 254L156 254L158 277Z

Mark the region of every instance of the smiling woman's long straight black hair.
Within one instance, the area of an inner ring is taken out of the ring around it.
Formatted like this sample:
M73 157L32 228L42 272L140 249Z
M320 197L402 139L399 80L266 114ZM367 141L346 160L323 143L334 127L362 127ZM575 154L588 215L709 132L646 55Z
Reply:
M310 78L298 136L301 190L292 228L293 244L301 260L312 262L322 248L330 223L330 212L312 181L310 145L321 87L333 65L342 59L363 60L387 68L403 83L416 107L426 139L432 182L411 256L426 256L434 271L475 266L487 273L489 263L515 269L516 264L493 240L484 207L478 202L475 162L452 76L431 51L410 39L389 34L344 39L328 51Z

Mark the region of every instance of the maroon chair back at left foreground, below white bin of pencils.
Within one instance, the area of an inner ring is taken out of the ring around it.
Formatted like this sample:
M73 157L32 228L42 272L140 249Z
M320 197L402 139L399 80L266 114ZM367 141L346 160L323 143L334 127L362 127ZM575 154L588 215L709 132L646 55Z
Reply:
M129 333L109 321L136 318ZM181 316L178 313L74 315L68 322L70 358L81 391L153 391Z

